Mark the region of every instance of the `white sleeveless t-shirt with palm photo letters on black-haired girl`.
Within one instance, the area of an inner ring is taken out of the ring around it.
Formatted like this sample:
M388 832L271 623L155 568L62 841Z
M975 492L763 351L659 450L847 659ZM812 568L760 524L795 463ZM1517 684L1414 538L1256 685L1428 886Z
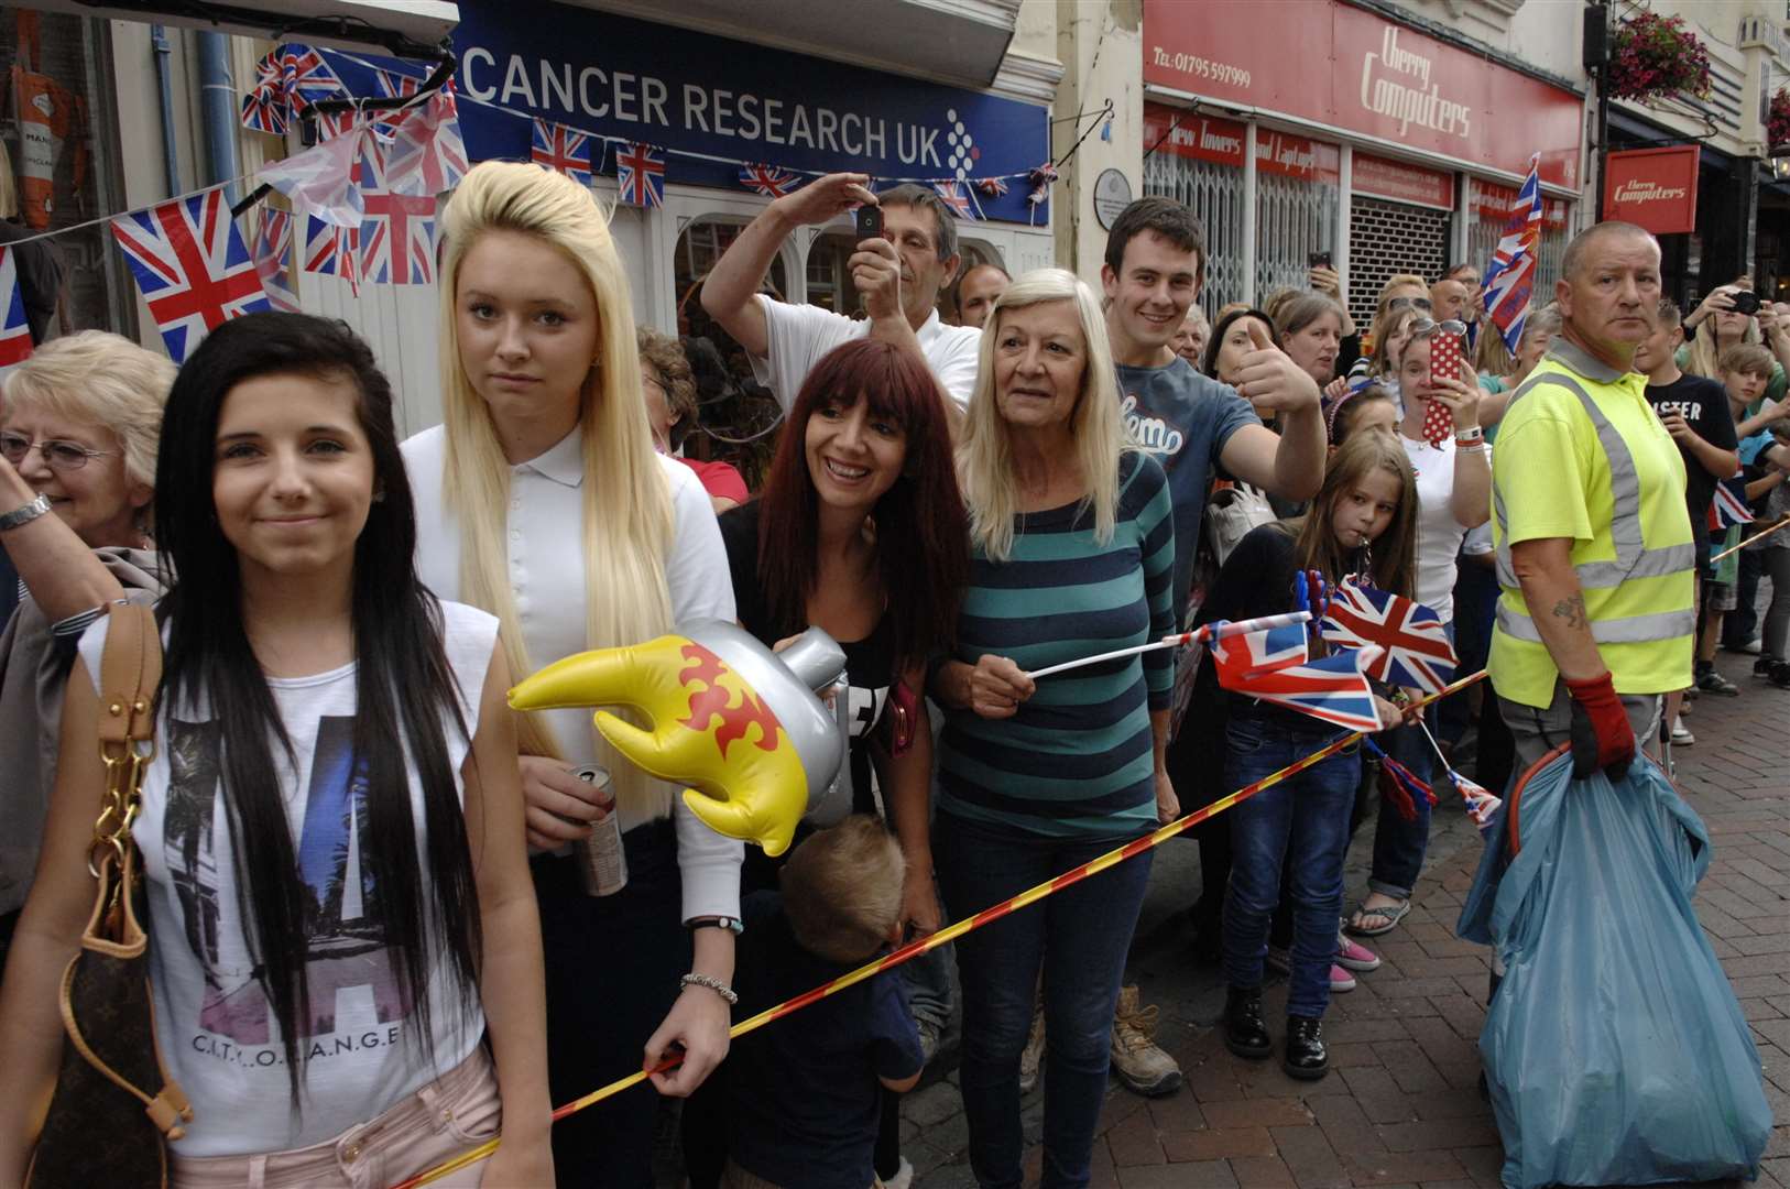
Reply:
M81 637L90 679L100 670L109 625L102 618ZM464 736L451 718L442 723L456 783L478 731L496 643L492 616L442 603L442 645L465 716ZM279 1024L252 974L224 804L222 732L206 706L163 700L158 713L156 759L143 777L132 836L149 892L156 1035L168 1073L193 1105L193 1123L174 1141L183 1157L324 1142L464 1062L485 1031L476 996L462 1001L453 960L437 949L428 981L430 1035L413 1033L417 1015L397 978L401 960L385 945L372 904L378 888L362 865L367 790L353 754L354 668L267 679L292 740L295 763L274 738L268 750L308 890L303 940L311 1010L299 1021L301 1116L292 1112ZM435 890L422 861L428 851L415 772L410 815L419 824L421 897L430 904Z

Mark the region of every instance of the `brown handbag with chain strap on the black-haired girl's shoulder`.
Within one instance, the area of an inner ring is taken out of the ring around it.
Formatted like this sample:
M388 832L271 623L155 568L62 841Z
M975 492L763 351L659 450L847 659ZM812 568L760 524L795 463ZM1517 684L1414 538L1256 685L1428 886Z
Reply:
M143 931L141 856L131 840L156 756L161 636L141 603L109 607L98 747L106 791L93 824L93 915L63 974L63 1065L25 1184L32 1189L166 1185L168 1141L193 1110L156 1048Z

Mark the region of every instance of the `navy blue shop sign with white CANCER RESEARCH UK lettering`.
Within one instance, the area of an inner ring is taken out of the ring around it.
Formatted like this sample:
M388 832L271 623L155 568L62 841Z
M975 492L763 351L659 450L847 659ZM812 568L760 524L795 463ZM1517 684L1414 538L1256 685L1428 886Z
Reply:
M532 116L659 145L668 183L720 190L741 161L968 181L1051 158L1035 104L582 7L462 0L453 48L474 161L526 161ZM983 213L1029 222L1020 183Z

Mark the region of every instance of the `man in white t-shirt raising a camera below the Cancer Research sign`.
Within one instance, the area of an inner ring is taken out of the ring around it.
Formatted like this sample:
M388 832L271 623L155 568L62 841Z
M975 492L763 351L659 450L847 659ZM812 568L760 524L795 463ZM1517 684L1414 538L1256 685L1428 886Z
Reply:
M927 364L945 408L958 412L976 385L981 331L945 326L938 294L958 274L958 224L925 186L895 186L881 195L866 174L829 174L766 206L739 233L702 287L702 308L752 358L752 371L789 408L809 369L834 347L874 335L911 346ZM797 227L832 222L857 210L852 285L865 297L866 321L820 306L777 301L759 292L782 242Z

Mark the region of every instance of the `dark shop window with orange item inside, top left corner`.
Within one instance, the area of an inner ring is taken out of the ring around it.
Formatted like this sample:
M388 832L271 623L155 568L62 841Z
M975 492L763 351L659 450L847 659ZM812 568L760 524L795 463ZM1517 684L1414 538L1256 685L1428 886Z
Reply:
M122 208L113 149L118 143L104 27L88 18L7 9L0 13L0 195L16 195L16 210L0 210L0 242L59 231ZM9 204L11 206L11 204ZM66 335L77 329L129 333L134 292L122 276L104 224L38 240L20 254L27 308L54 306L34 317L34 329Z

